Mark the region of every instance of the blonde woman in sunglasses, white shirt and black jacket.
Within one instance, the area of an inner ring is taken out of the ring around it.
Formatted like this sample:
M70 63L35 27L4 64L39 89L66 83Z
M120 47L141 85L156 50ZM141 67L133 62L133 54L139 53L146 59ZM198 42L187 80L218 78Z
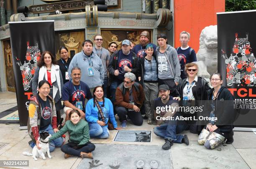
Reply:
M185 65L185 72L187 73L188 77L183 79L178 86L182 106L199 106L203 100L207 99L207 90L209 90L210 87L204 78L197 76L197 71L198 66L196 63L192 62ZM192 133L199 134L202 128L197 126L195 122L196 121L191 120L188 121L189 130Z

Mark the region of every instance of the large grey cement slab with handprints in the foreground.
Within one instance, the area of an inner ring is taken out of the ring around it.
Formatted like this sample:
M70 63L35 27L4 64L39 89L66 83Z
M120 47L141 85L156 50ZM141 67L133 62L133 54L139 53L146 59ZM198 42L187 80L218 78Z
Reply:
M95 144L93 159L84 158L77 169L172 169L170 151L161 146Z

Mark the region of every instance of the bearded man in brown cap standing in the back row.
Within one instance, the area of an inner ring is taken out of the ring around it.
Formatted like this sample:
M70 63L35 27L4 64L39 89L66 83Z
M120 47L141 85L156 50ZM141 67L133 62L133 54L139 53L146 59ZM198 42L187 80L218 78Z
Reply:
M150 34L148 31L141 32L140 35L140 44L135 45L133 48L133 52L136 53L138 58L143 58L146 56L146 45L151 44L153 45L154 51L156 50L156 45L153 43L149 43Z

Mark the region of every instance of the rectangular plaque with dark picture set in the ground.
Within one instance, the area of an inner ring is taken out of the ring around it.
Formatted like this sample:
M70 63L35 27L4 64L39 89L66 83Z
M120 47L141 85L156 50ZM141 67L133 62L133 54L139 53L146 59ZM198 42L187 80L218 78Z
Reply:
M151 131L118 130L114 141L151 142Z

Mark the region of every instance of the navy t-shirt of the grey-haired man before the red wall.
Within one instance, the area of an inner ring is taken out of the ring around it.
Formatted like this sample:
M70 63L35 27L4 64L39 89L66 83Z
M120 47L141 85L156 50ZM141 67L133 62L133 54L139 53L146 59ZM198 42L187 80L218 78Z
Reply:
M189 50L191 49L190 46L188 46L187 48L181 48L179 47L177 49L177 53L178 53L178 58L179 58L179 64L180 64L180 77L182 79L187 78L187 73L184 72L185 69L185 65L187 63L191 63L191 62L195 62L197 61L197 57L196 57L196 53L195 50L191 51L191 54L189 55Z

